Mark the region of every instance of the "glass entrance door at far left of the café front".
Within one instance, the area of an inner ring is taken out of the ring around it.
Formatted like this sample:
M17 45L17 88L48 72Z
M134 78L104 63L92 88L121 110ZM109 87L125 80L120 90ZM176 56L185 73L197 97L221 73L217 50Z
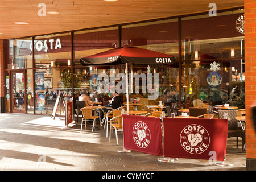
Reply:
M13 113L25 113L25 74L12 73L13 81Z

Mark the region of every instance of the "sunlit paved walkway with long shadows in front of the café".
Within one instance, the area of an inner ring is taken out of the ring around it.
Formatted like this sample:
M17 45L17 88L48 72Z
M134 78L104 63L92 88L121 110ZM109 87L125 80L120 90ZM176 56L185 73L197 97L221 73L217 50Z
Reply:
M104 130L83 129L80 125L65 128L64 118L29 114L0 114L0 169L48 171L201 171L246 170L245 152L236 148L236 138L228 139L226 159L233 166L210 165L208 160L179 159L158 162L158 156L122 150L106 138ZM89 127L88 127L89 128Z

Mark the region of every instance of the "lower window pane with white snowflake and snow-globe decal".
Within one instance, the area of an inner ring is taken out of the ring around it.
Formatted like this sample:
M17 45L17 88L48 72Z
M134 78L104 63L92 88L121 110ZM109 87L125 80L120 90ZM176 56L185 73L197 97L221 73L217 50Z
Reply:
M243 60L242 60L243 63ZM197 61L183 64L182 102L192 104L191 82L197 78L196 98L210 105L245 107L245 75L241 60ZM235 92L235 94L233 93ZM234 97L236 95L236 97Z

